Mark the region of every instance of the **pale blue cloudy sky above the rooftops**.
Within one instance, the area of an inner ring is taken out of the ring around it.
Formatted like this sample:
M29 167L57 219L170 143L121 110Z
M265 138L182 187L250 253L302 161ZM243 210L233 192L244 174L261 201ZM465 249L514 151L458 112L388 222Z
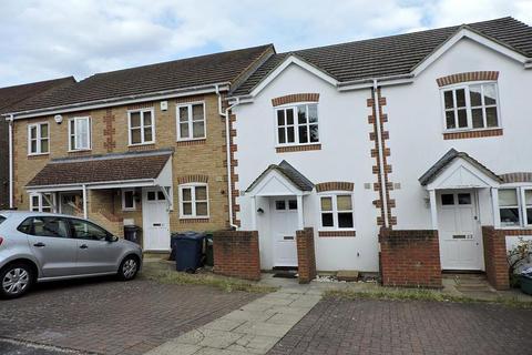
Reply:
M532 0L1 0L0 87L265 43L277 52L512 16Z

